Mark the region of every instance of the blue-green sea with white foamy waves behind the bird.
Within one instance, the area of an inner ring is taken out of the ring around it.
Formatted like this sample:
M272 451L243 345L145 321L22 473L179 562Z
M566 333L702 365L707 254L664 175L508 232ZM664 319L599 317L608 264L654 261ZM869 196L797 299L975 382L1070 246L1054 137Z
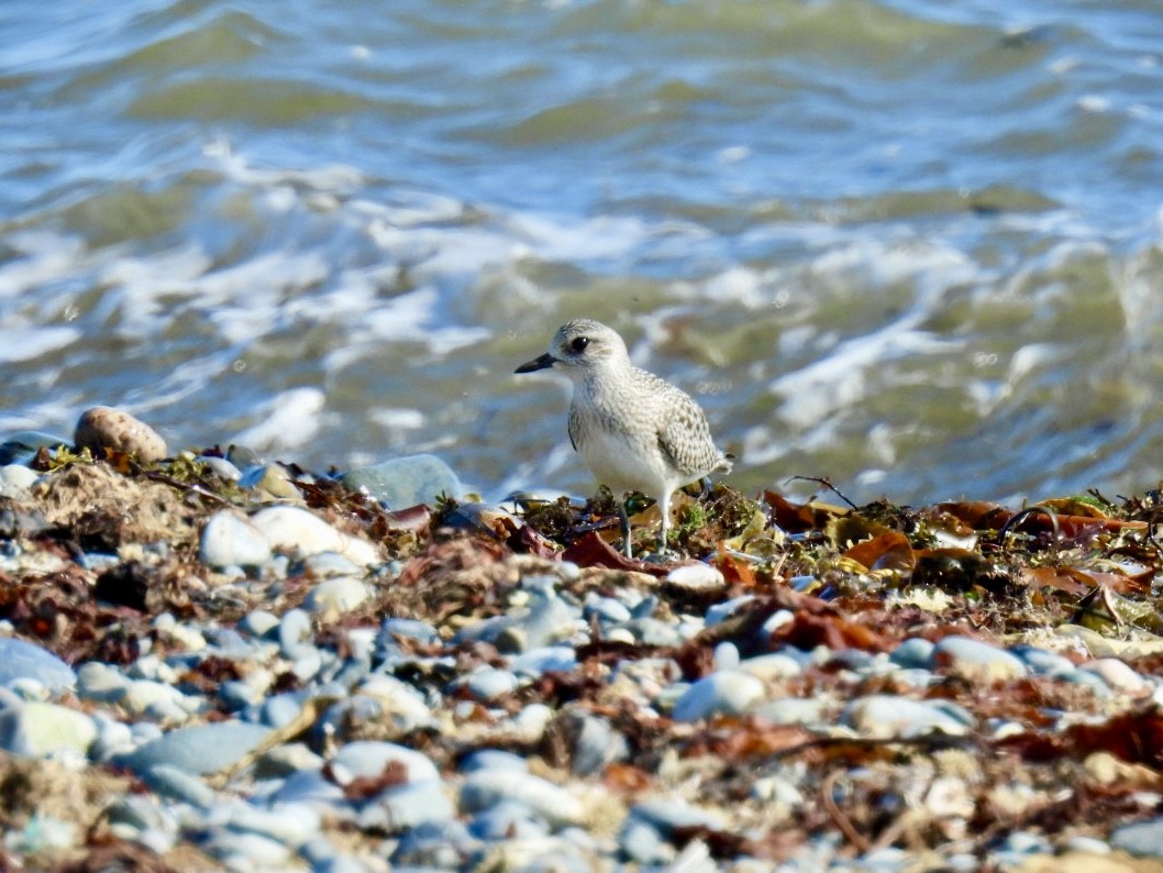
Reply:
M568 318L744 490L1163 478L1146 0L0 3L0 435L590 492Z

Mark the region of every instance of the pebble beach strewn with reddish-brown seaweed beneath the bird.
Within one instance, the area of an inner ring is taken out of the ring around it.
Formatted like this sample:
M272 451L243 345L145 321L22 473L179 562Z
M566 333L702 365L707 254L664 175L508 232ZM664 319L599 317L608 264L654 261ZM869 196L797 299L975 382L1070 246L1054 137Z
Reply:
M652 563L431 455L0 460L7 870L1163 870L1156 496L719 484Z

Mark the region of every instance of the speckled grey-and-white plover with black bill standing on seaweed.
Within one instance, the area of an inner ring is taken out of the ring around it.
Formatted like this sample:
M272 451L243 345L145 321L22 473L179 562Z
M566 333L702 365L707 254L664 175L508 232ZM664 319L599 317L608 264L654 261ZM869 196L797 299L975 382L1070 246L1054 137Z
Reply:
M562 325L549 352L515 372L554 365L573 379L570 441L598 482L619 498L626 555L633 556L625 503L629 491L658 502L658 551L665 554L671 495L732 468L711 439L707 417L686 392L632 364L622 338L598 321L579 318Z

